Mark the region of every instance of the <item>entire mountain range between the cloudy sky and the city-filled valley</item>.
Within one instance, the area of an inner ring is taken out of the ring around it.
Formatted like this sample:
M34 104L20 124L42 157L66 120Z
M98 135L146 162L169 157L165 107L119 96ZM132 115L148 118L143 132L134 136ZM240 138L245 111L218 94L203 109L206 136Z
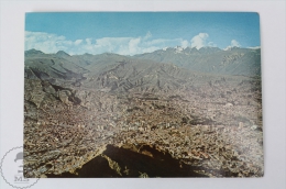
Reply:
M123 56L112 53L69 55L63 51L25 52L25 77L59 86L106 91L168 91L216 78L261 74L261 51L233 47L168 47Z

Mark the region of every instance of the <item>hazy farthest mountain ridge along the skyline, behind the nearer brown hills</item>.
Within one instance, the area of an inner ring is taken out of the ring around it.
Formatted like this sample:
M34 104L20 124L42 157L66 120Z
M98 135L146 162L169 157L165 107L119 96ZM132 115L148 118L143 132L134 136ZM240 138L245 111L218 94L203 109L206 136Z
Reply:
M110 65L111 62L116 63L122 59L132 58L174 64L184 69L187 68L200 73L242 76L261 75L260 48L230 47L228 49L220 49L218 47L207 46L197 49L196 47L183 48L176 46L133 56L118 55L113 53L102 53L98 55L87 53L82 55L68 55L64 51L59 51L56 54L44 54L41 51L30 49L25 52L25 56L56 56L73 62L80 67L94 69L94 71L97 70L97 68L92 68L95 65L101 64L101 66L105 67ZM111 62L110 58L112 59Z

